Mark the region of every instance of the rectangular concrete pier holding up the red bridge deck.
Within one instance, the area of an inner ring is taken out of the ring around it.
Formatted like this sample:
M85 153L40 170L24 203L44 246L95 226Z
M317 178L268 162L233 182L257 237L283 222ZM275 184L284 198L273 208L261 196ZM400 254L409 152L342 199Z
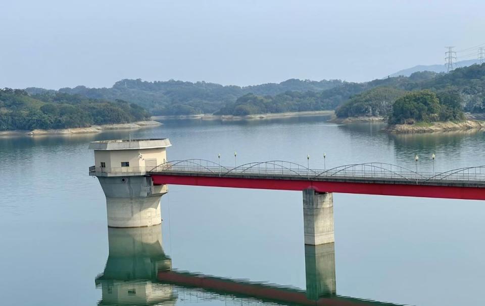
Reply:
M317 193L313 189L303 191L303 226L305 244L318 246L335 241L332 193Z

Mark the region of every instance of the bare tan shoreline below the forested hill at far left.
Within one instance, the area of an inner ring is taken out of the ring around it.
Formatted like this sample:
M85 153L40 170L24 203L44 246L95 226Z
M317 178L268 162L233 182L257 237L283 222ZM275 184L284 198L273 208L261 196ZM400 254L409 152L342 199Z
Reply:
M162 125L155 120L135 121L132 123L94 125L86 128L67 128L67 129L50 129L50 130L32 130L32 131L0 131L2 136L37 136L37 135L76 135L76 134L94 134L109 130L134 130L141 128L158 127Z

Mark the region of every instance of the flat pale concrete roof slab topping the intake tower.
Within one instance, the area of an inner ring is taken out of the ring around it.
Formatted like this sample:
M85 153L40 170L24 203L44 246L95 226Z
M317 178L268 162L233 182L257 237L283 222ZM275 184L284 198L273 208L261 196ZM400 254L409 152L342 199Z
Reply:
M92 141L89 149L93 150L139 150L167 148L172 144L168 138L146 138L146 139L113 139Z

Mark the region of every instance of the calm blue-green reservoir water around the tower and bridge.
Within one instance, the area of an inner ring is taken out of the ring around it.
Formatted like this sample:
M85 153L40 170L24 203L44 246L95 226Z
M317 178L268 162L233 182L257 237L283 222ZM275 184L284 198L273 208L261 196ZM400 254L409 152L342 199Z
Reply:
M167 120L146 130L0 138L0 304L276 303L157 282L164 267L307 289L301 192L169 186L161 227L108 230L103 191L88 176L90 141L170 138L169 159L217 161L220 153L227 165L234 152L237 164L306 164L308 154L315 168L324 153L327 168L379 161L414 169L418 154L418 169L431 171L433 153L436 171L485 164L483 132L394 136L382 124L326 119ZM482 201L334 194L336 294L353 303L482 304L484 216Z

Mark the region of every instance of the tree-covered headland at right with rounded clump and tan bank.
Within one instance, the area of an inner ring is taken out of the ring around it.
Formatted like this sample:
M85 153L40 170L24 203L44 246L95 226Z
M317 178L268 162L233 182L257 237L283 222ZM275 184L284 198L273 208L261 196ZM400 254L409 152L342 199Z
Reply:
M485 128L485 121L466 118L462 103L454 90L406 92L381 87L356 95L338 107L335 121L387 121L385 131L399 134Z

